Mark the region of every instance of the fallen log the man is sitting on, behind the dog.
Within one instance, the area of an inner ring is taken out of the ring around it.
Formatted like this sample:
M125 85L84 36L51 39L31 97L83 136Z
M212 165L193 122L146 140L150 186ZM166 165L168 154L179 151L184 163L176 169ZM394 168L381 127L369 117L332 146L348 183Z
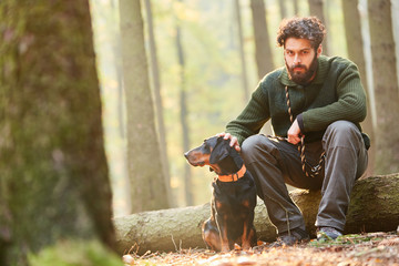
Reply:
M315 235L320 192L297 190L290 193L304 214L307 231ZM176 252L205 247L201 226L209 216L209 204L144 212L114 218L117 250L121 254L146 250ZM273 242L276 229L263 201L255 208L258 238ZM399 173L358 180L347 215L345 233L390 232L399 225Z

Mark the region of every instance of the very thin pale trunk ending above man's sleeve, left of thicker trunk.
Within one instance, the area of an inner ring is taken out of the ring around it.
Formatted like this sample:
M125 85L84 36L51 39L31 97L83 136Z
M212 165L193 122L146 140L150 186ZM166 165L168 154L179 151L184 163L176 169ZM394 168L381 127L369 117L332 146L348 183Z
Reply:
M239 0L235 0L234 2L234 11L236 14L236 23L237 23L237 34L238 34L238 49L239 49L239 60L242 66L242 81L244 89L244 99L245 102L249 100L249 88L248 88L248 74L246 69L245 61L245 49L244 49L244 37L243 37L243 25L242 25L242 16L239 9Z

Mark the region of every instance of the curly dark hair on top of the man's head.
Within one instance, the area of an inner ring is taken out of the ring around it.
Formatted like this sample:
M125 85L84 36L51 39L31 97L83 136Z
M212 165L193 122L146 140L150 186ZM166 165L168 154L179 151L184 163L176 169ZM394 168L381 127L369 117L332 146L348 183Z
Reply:
M307 39L313 48L317 48L323 42L326 34L326 28L316 17L293 18L283 20L277 32L277 44L284 47L288 38Z

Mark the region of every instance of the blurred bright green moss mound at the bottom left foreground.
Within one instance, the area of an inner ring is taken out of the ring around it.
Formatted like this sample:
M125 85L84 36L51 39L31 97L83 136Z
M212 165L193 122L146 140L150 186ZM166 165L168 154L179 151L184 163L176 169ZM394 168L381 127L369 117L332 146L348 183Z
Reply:
M117 266L122 258L108 250L100 242L63 241L44 248L39 254L30 254L31 266Z

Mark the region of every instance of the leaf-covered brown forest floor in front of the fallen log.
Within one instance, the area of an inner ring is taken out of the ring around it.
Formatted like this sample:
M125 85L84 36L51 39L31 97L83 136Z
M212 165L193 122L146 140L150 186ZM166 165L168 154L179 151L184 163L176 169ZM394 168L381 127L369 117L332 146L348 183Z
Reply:
M182 249L176 253L130 254L125 265L295 265L295 266L399 266L399 232L345 235L336 241L310 241L296 246L268 247L267 243L250 252L215 253Z

